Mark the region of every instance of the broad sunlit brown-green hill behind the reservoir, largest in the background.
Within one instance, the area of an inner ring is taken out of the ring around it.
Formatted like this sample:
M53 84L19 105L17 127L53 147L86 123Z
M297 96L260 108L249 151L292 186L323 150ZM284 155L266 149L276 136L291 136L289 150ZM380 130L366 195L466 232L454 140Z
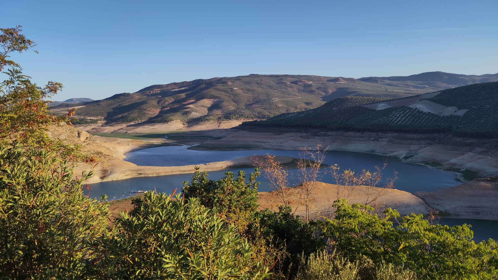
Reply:
M87 103L61 104L53 109L78 106L78 118L102 117L107 123L265 119L314 109L346 96L402 98L451 87L442 82L402 79L384 82L251 74L153 85L135 93L116 94Z

